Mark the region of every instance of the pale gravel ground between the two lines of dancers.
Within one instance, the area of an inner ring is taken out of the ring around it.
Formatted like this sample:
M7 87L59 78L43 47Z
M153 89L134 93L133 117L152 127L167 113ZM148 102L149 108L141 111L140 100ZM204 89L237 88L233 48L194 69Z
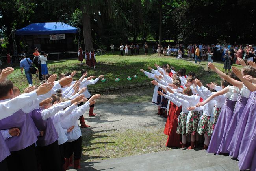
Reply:
M89 124L93 131L163 128L166 122L166 118L156 114L157 106L152 102L97 104L94 112L97 113L94 117L84 114L86 124ZM79 121L78 124L80 124ZM89 132L82 129L84 135Z

